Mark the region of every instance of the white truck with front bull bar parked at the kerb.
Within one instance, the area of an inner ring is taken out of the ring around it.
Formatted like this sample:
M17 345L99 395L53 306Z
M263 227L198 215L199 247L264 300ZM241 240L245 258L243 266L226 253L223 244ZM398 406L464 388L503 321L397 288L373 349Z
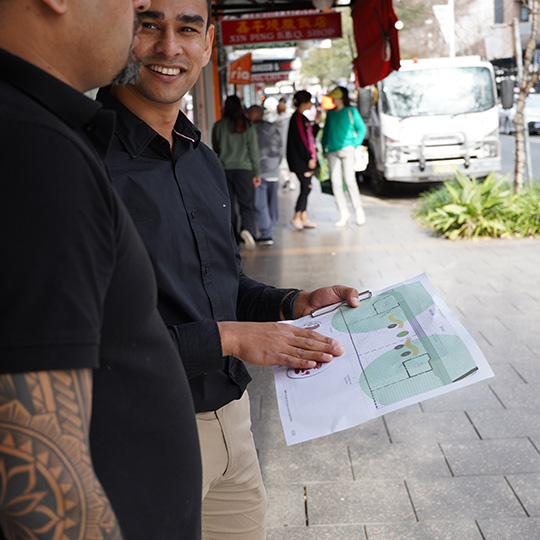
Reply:
M493 68L479 57L403 60L371 89L365 175L389 182L440 182L460 170L479 178L501 169ZM362 104L364 106L362 106Z

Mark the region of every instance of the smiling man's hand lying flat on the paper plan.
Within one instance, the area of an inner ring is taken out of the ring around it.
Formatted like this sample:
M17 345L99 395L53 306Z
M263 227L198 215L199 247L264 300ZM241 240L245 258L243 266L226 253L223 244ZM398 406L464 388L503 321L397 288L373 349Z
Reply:
M223 355L257 366L312 369L343 354L341 344L312 329L291 324L218 322Z

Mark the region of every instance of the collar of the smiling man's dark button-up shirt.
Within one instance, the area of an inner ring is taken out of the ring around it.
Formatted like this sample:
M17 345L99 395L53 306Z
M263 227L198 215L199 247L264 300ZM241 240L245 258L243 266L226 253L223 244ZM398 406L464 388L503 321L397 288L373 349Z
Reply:
M106 109L112 109L116 112L116 134L132 158L140 156L156 137L161 137L159 133L118 101L111 94L110 87L101 88L97 99ZM188 143L193 144L195 148L201 140L201 132L182 111L179 111L176 119L174 133Z

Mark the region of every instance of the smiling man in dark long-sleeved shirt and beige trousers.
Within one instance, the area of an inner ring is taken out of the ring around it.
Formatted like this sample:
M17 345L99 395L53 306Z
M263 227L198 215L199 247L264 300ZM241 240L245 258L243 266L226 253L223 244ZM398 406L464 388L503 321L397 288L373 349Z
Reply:
M198 413L203 538L255 540L265 538L266 499L244 362L309 368L342 349L310 330L254 321L296 318L341 299L357 305L358 292L276 289L242 271L223 168L178 112L209 60L213 33L205 0L153 0L135 48L139 82L102 89L98 99L117 113L108 165L149 250L158 307Z

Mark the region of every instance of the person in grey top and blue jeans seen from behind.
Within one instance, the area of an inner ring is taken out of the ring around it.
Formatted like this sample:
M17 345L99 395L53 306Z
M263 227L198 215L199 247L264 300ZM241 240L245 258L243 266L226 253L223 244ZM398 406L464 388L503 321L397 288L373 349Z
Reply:
M261 184L255 189L255 210L260 233L257 244L272 246L278 218L279 165L283 157L283 146L279 127L264 120L263 114L260 105L248 109L248 116L257 131L261 165Z

